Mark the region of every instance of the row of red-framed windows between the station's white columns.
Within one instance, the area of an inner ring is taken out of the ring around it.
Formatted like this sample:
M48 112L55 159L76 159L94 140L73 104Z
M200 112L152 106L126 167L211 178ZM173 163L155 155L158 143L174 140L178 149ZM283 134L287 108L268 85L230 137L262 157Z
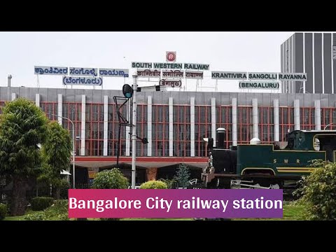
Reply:
M4 102L0 102L1 106ZM108 155L116 155L118 150L118 121L116 105L108 106ZM57 120L58 104L57 102L41 102L41 109L45 112L49 120ZM132 112L131 106L123 106L121 114L127 120L130 120L132 113L127 118L127 112ZM225 146L229 148L232 145L232 107L216 106L216 128L224 127L226 130ZM69 118L73 121L75 127L75 136L81 136L81 103L63 103L62 104L62 125L73 134L73 127ZM169 106L152 106L152 155L169 155ZM137 106L137 134L139 138L147 136L147 105L139 104ZM321 109L321 128L328 125L328 129L336 130L336 109ZM190 156L190 106L173 106L173 154L177 156ZM311 107L300 108L300 128L302 130L315 129L315 109ZM294 108L279 108L279 138L285 139L286 133L294 130ZM132 129L129 129L132 132ZM203 138L211 137L211 106L195 106L195 155L205 156L207 146ZM271 144L274 141L274 109L268 106L258 107L258 136L262 143ZM126 127L120 127L120 155L125 155L126 149ZM253 138L253 107L238 106L237 108L237 142L238 144L247 144ZM104 104L85 104L85 155L102 155L102 142L104 139ZM130 139L130 136L127 136ZM79 153L80 140L76 140L76 152ZM218 143L216 143L217 145ZM132 144L130 144L132 152ZM137 155L146 156L147 148L141 141L137 141Z

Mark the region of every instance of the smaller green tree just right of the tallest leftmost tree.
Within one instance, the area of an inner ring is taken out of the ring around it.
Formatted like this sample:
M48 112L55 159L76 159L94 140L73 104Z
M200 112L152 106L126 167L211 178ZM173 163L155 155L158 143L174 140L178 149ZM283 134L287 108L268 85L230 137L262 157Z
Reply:
M39 181L52 184L54 197L59 200L61 187L64 179L61 177L62 170L68 170L71 162L71 137L59 123L50 122L47 127L47 137L41 148L43 160L43 175Z

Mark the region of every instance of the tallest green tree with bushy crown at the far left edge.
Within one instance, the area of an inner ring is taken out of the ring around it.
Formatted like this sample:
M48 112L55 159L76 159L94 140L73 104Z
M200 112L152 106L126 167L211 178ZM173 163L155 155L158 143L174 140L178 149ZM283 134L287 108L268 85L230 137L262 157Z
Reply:
M10 215L25 214L26 186L41 172L38 144L45 139L48 119L27 99L3 106L0 117L0 175L13 181Z

